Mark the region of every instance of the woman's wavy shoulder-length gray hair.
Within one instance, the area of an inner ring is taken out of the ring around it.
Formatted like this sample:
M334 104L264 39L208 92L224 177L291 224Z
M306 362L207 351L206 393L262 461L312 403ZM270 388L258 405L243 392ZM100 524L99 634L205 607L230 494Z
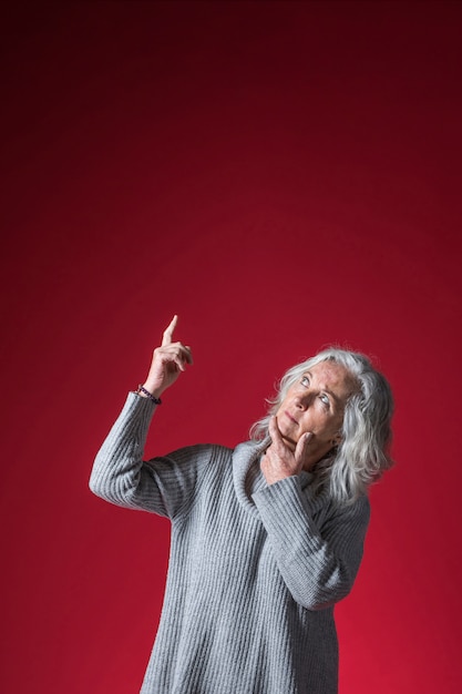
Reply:
M260 440L269 436L269 419L276 415L288 389L320 361L343 366L357 388L345 407L342 440L316 465L314 484L318 492L329 488L331 497L339 502L352 502L393 465L388 455L393 397L384 376L365 355L330 347L286 371L276 397L268 400L271 406L268 415L255 422L250 437Z

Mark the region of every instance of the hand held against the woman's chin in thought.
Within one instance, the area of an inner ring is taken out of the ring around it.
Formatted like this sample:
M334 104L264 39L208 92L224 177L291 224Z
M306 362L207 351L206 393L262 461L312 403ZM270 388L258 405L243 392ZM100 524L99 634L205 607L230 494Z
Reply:
M284 480L286 477L299 474L307 459L307 448L312 433L304 433L297 441L295 451L292 451L283 439L276 417L271 417L269 436L271 437L271 445L266 449L260 463L261 472L268 484Z

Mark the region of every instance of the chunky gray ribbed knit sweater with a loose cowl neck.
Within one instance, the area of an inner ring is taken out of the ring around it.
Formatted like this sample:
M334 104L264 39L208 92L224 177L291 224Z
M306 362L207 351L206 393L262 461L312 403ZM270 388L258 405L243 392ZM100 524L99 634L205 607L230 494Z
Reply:
M369 503L315 497L312 474L268 486L267 441L142 461L155 406L130 394L92 491L172 521L161 623L142 694L335 694L333 604L357 574Z

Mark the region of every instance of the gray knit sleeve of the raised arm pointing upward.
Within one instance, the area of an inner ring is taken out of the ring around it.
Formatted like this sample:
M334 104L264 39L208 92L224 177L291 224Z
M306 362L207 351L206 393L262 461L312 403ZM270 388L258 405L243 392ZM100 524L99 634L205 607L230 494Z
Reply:
M173 518L192 500L211 447L192 446L143 461L155 409L147 398L129 394L95 458L90 489L116 506Z

